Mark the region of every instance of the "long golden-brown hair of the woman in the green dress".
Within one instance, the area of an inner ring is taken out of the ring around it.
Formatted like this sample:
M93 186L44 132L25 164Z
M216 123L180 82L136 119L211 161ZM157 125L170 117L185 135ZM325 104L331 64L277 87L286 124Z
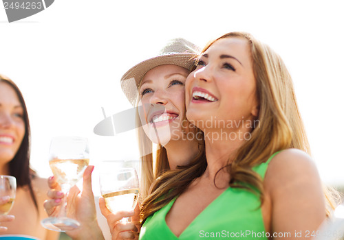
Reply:
M259 101L259 127L252 128L251 138L237 149L235 159L225 166L230 173L229 185L233 188L248 189L259 194L264 201L263 180L252 167L266 162L268 158L283 149L297 148L310 154L310 145L297 99L292 78L280 56L268 45L260 43L250 34L231 32L208 43L206 51L213 43L222 38L244 38L250 45L252 69L257 84ZM206 169L205 156L198 156L189 166L160 176L152 188L152 194L142 203L140 219L143 222L183 193ZM215 181L215 179L214 179ZM173 189L173 191L171 191ZM331 195L324 188L327 200L327 215L334 208Z

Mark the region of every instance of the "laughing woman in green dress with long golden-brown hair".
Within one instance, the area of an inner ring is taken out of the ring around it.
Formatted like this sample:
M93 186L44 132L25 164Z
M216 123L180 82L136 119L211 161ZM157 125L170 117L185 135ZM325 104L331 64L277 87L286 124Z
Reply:
M186 80L186 117L204 132L206 163L155 182L140 239L314 235L327 215L323 188L291 77L272 49L240 32L207 45Z

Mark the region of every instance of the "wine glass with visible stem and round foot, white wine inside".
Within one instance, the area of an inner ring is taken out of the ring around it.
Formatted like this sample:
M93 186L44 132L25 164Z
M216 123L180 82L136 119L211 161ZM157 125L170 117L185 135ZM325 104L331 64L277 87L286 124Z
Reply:
M83 178L83 172L89 164L87 139L77 136L53 138L50 144L49 164L64 197L57 217L43 219L41 224L47 229L58 232L74 230L80 226L80 223L69 217L75 213L75 209L67 207L67 195L69 189Z

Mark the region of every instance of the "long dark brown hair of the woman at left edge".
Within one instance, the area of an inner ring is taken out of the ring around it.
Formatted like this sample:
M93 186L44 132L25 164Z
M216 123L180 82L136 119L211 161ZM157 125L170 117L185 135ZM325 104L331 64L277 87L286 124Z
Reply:
M32 179L36 178L36 173L30 168L30 143L31 143L31 134L30 134L30 123L28 117L28 110L25 105L25 101L21 91L18 86L10 80L10 78L0 74L0 82L4 82L10 85L14 91L17 93L18 99L23 108L23 119L25 124L25 135L23 141L18 149L17 154L9 163L9 174L17 178L17 187L27 187L34 206L36 207L37 212L39 207L37 204L36 196L32 188Z

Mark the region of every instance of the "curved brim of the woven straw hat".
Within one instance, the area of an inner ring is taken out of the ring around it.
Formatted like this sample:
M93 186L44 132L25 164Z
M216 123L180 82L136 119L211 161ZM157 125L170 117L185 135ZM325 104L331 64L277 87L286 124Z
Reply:
M127 96L131 105L135 106L138 98L138 86L149 70L160 65L173 64L191 71L193 66L195 66L194 59L194 53L169 53L144 60L129 69L127 73L122 76L120 80L122 91Z

